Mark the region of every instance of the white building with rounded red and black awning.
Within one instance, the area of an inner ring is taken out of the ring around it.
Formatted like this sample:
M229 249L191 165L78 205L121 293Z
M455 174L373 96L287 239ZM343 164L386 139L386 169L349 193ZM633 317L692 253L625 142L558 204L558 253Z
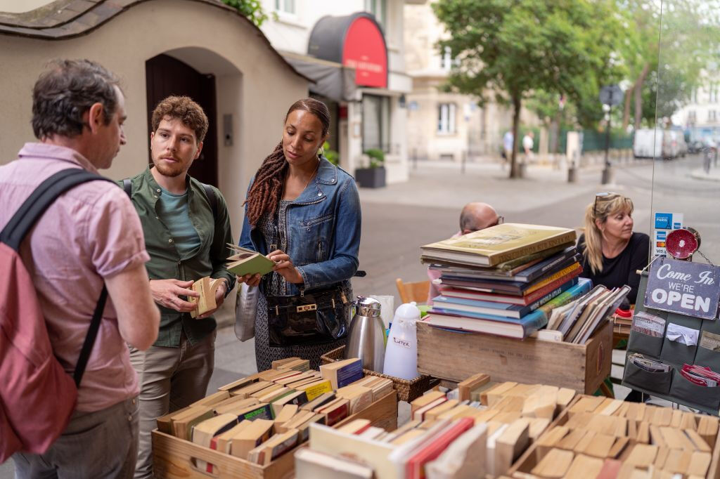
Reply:
M382 150L387 183L408 179L404 11L415 0L264 0L261 29L330 107L330 147L354 174Z

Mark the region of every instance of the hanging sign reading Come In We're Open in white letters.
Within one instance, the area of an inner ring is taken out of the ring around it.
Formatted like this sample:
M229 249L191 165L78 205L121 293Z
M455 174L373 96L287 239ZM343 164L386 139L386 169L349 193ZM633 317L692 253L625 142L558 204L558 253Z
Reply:
M715 319L720 267L661 257L650 266L645 306L702 319Z

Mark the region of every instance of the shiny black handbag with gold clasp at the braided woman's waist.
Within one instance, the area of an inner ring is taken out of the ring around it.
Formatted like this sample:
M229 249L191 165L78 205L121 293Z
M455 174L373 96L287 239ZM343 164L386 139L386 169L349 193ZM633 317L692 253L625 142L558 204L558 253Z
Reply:
M268 296L269 345L315 345L346 337L349 303L341 287Z

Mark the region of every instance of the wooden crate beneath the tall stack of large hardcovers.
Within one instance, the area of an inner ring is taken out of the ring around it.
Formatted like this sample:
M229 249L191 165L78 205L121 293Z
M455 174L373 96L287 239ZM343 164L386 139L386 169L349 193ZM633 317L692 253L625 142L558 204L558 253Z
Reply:
M459 382L476 373L494 381L571 388L592 394L610 375L613 328L600 328L585 345L490 334L458 333L418 321L418 372Z

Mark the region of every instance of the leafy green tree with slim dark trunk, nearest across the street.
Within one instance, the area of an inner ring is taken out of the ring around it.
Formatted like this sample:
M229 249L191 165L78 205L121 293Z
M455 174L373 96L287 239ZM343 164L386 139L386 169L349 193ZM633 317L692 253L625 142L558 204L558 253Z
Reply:
M433 10L449 33L457 65L447 87L482 102L485 92L513 106L518 144L520 111L528 95L544 91L577 101L620 65L613 62L629 22L606 0L438 0ZM626 27L627 25L627 27ZM510 178L518 177L516 148Z

